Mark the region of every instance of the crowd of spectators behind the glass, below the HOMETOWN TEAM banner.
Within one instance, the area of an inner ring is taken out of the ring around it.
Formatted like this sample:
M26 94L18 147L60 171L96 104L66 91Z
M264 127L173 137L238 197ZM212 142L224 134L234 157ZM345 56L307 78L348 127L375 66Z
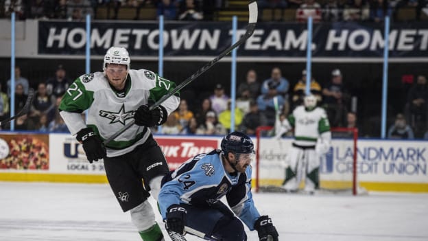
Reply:
M21 68L15 67L14 110L21 110L27 100L32 82L21 76ZM357 121L357 113L350 108L352 93L346 89L340 69L331 71L331 79L320 84L311 75L310 91L316 96L318 105L325 109L331 126L356 127L359 135L366 137L364 128ZM212 92L201 97L200 106L190 108L182 97L177 110L172 113L161 128L154 128L158 134L174 135L224 135L230 131L232 113L235 116L235 130L254 135L259 126L274 126L278 115L287 116L302 104L306 93L307 71L294 81L292 86L283 76L281 68L272 67L270 78L259 80L257 71L249 69L246 78L238 81L235 109L222 84L217 83ZM388 128L391 139L428 139L428 82L423 75L416 76L409 88L403 110L397 110L392 126ZM0 82L0 119L10 115L10 80ZM58 113L62 95L67 91L71 79L63 65L45 82L36 85L35 97L27 115L16 119L14 130L36 130L40 132L67 133L67 126ZM4 86L5 88L2 88ZM4 92L3 92L4 91ZM8 130L8 126L2 126Z

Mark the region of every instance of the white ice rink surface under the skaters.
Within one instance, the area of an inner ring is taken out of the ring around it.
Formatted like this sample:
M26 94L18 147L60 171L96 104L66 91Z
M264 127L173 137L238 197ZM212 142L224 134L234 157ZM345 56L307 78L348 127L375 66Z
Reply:
M1 241L141 240L108 185L0 182L0 196ZM428 240L428 194L264 193L254 200L281 241ZM259 240L257 232L248 240Z

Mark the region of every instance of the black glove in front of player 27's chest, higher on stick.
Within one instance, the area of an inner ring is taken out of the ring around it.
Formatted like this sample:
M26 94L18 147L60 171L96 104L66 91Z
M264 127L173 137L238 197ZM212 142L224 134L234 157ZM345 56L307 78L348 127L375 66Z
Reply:
M167 121L167 110L163 106L158 106L152 111L147 104L140 106L134 113L135 124L137 126L160 126Z

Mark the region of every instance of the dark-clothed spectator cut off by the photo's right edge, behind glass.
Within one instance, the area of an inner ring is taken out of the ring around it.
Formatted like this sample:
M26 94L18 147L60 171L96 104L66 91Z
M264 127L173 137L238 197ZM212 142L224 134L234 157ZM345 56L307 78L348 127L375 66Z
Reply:
M425 76L418 76L416 84L409 89L405 116L407 123L414 128L416 137L422 137L428 122L428 83Z

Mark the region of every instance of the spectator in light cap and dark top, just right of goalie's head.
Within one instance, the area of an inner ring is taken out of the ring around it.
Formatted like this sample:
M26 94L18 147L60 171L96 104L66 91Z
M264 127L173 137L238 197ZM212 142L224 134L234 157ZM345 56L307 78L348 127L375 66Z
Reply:
M346 113L348 112L348 102L350 95L346 91L342 82L342 73L340 69L334 69L331 72L331 82L322 89L324 96L324 108L331 126L345 126Z

